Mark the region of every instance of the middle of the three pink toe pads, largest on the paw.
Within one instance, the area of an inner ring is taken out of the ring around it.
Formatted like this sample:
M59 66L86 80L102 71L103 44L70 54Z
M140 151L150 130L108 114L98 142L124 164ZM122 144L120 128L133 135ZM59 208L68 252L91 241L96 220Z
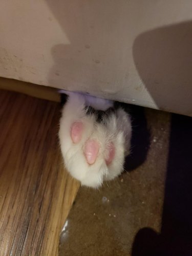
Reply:
M84 155L88 164L92 165L95 163L99 152L99 143L96 140L88 140L84 146Z

